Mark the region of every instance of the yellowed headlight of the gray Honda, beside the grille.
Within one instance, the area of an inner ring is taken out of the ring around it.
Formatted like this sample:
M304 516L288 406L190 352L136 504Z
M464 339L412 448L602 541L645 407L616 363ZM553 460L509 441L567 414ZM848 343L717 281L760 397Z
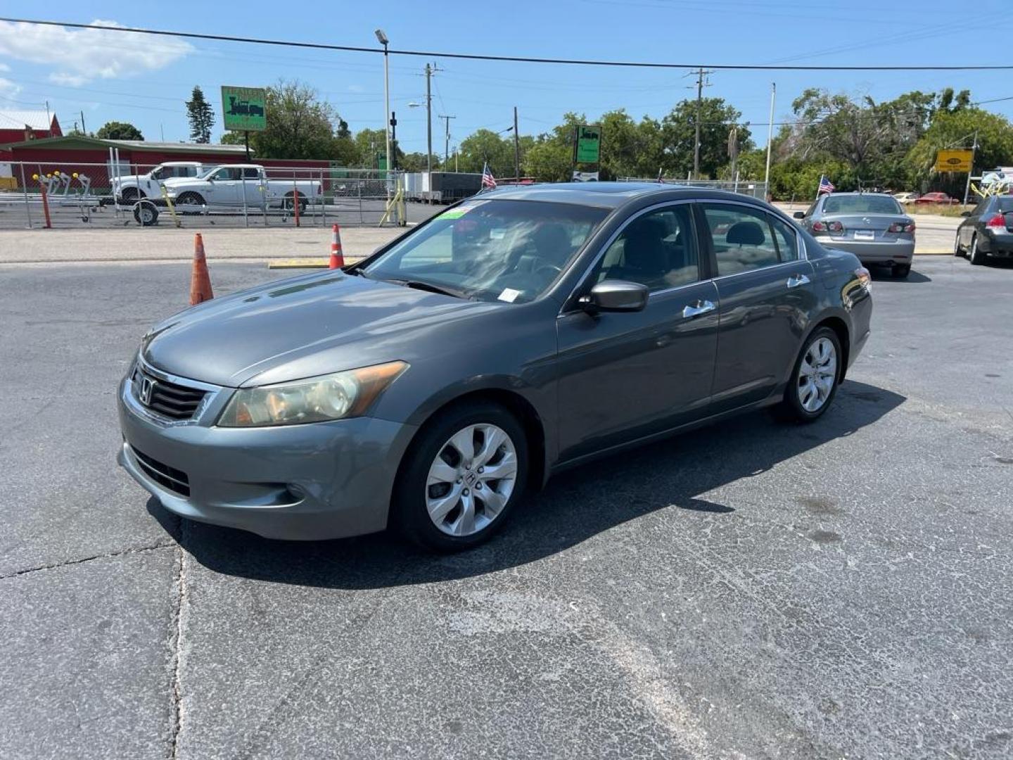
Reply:
M262 428L359 416L406 369L404 362L390 362L291 383L240 388L232 394L218 425Z

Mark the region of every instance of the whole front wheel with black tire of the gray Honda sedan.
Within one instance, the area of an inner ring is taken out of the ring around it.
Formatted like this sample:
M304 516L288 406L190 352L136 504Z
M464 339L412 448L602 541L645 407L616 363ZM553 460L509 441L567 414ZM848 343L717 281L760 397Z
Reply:
M405 454L391 504L393 527L434 551L486 541L524 496L528 442L506 409L476 402L430 421Z

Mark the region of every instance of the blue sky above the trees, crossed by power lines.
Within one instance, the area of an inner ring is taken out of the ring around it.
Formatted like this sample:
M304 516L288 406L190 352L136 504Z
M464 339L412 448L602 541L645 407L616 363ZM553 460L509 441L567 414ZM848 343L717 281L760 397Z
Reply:
M512 0L511 2L323 2L285 4L85 3L49 0L4 4L6 13L96 19L126 26L267 36L373 47L383 27L392 49L687 62L817 65L1007 64L1003 41L1013 2L979 0L973 16L952 2L922 0ZM970 6L968 6L969 8ZM40 17L40 16L34 16ZM993 42L989 42L992 40ZM422 102L426 61L434 77L434 149L442 153L443 121L455 116L451 145L479 128L504 130L520 111L521 133L537 134L563 112L624 107L660 118L695 95L679 70L391 58L391 107L407 151L424 151ZM280 77L316 87L353 130L383 125L383 61L370 54L296 50L204 41L172 41L110 32L64 32L0 24L0 108L41 108L45 100L64 129L106 121L137 125L149 140L187 136L182 101L194 84L220 110L222 84L258 86ZM968 88L976 100L1013 95L1009 72L743 72L718 71L706 94L743 111L759 144L766 142L770 85L777 82L775 121L790 118L791 100L821 86L888 99L911 90ZM1013 100L990 104L1013 118ZM221 134L219 123L214 133Z

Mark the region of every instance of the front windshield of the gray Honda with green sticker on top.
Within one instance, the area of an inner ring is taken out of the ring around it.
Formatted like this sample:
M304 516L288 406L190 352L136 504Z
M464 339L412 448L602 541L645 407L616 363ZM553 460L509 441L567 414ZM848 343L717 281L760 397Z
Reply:
M363 272L467 298L523 303L548 289L607 215L608 209L569 204L473 199Z

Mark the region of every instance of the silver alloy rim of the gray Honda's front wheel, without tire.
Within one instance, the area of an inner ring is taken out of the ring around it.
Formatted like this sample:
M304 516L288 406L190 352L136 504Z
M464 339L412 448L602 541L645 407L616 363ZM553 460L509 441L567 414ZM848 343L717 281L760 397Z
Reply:
M517 475L517 446L511 437L494 425L469 425L451 436L430 466L430 519L447 535L474 535L502 512Z

